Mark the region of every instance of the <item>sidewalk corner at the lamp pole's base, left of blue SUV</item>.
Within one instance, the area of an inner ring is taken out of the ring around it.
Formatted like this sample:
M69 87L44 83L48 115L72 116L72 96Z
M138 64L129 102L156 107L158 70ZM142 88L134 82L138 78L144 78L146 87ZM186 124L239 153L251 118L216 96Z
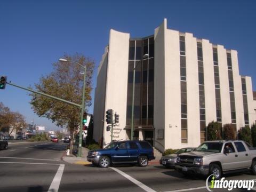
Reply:
M88 149L85 147L82 147L82 157L76 157L75 155L71 154L67 156L67 152L62 155L61 160L67 162L67 163L72 163L72 164L79 164L79 165L89 165L91 164L89 161L87 161L87 154L88 154Z

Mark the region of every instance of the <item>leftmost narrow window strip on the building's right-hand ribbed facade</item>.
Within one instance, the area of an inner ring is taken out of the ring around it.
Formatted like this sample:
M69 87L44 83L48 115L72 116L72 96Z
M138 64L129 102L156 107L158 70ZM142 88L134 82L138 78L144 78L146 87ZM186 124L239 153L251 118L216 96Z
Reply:
M185 37L180 36L181 143L188 143L187 71Z

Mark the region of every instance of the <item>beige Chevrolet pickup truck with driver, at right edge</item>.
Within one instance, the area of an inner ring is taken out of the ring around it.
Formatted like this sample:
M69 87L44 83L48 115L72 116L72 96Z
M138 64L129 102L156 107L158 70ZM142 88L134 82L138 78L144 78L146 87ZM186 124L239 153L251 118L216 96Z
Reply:
M256 149L241 140L206 141L189 153L177 157L175 170L201 175L222 174L250 169L256 175Z

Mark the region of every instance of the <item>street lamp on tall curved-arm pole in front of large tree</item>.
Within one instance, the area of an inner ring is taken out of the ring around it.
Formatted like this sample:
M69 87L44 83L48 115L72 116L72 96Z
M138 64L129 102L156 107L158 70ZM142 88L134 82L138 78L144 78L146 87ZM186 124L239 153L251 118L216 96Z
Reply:
M76 61L62 59L62 58L60 58L59 61L73 62L73 63L76 63L77 65L84 68L84 83L83 83L83 95L82 95L82 104L81 104L81 121L80 121L80 129L79 129L79 146L78 146L78 155L77 155L78 157L81 157L82 156L82 137L83 137L83 115L84 115L84 94L85 94L86 65L82 66L80 63L78 63Z

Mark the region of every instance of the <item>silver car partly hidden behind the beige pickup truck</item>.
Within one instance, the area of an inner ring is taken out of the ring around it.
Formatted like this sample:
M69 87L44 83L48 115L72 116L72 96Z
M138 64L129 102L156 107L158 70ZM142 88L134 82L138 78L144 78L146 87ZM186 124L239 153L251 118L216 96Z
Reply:
M187 147L187 148L179 149L174 154L163 156L159 160L159 163L164 165L165 167L173 167L174 168L175 167L175 163L177 163L177 156L178 156L178 154L187 153L187 152L193 151L195 149L196 148L194 148L194 147Z

